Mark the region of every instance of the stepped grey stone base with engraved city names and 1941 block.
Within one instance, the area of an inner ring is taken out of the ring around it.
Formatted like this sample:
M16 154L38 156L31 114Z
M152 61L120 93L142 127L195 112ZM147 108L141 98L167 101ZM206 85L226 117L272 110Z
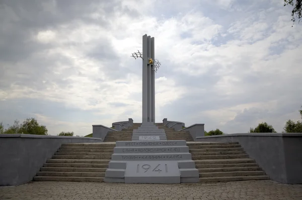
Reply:
M199 172L186 141L116 142L105 182L198 182Z

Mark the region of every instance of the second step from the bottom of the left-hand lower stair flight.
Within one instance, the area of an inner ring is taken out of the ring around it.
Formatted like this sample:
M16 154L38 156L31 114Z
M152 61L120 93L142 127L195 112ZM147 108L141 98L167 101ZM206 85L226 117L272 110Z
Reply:
M37 176L85 176L85 177L104 177L105 172L53 172L39 171Z

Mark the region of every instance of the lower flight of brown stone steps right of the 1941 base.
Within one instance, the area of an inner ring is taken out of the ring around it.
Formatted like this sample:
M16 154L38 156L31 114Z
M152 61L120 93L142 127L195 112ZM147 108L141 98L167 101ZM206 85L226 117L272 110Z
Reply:
M187 142L199 182L266 180L269 176L239 143Z

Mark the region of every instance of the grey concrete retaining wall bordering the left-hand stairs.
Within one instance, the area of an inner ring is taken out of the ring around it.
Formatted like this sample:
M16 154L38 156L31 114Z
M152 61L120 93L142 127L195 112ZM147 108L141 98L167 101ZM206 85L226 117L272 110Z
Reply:
M101 139L0 134L0 186L31 181L61 144L97 142L101 142Z

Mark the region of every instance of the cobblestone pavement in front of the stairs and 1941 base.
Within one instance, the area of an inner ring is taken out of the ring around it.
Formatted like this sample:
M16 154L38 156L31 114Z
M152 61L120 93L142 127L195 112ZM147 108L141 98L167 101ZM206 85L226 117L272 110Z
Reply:
M301 200L302 184L271 180L198 184L31 182L0 187L0 199L284 199Z

